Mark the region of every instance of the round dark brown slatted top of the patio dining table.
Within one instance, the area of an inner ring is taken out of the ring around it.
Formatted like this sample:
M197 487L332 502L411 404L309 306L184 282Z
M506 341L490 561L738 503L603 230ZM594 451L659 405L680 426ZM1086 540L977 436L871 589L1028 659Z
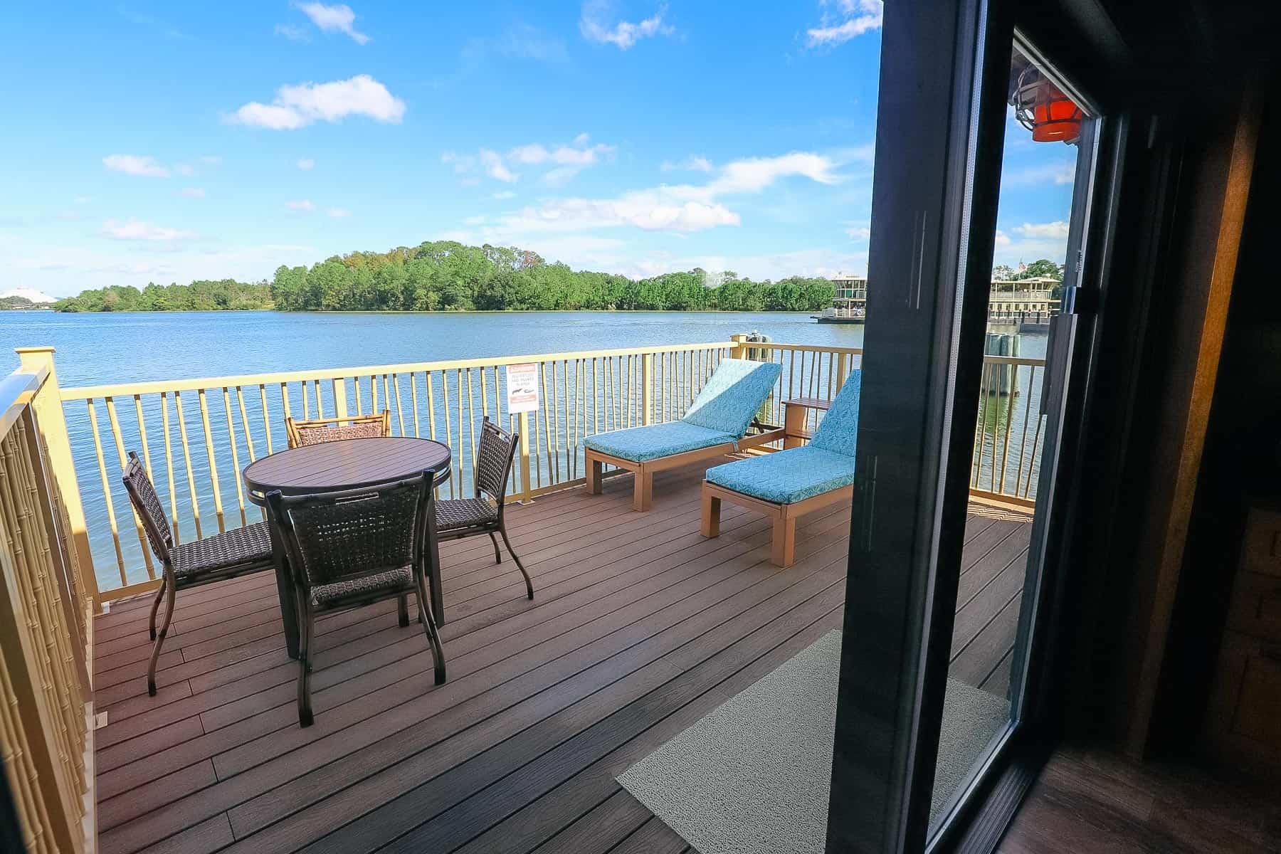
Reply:
M355 489L436 470L436 483L450 478L450 446L433 439L386 437L342 439L290 448L251 462L245 469L250 501L263 506L264 495L279 489L304 495L333 489Z

